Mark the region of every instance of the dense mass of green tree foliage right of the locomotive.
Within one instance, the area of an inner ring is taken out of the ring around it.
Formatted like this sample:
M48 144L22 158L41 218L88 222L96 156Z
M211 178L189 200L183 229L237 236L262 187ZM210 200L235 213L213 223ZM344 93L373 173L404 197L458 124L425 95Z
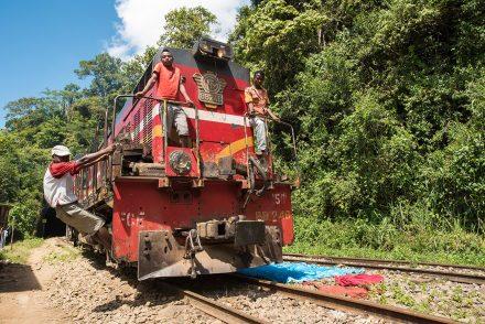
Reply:
M231 41L295 122L298 215L483 231L483 1L256 2Z

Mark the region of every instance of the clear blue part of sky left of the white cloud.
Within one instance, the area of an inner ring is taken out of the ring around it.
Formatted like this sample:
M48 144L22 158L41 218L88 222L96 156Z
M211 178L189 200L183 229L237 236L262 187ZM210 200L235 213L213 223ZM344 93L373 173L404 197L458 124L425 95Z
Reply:
M80 60L115 35L114 1L0 0L0 127L8 101L77 83Z

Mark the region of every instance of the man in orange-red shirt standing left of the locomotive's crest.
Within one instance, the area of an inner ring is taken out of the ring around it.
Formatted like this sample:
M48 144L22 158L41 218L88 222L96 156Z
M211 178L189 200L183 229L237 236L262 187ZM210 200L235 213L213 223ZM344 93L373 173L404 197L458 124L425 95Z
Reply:
M187 101L191 106L194 105L185 89L184 78L181 77L180 68L173 66L172 53L165 48L162 51L161 62L159 62L153 68L151 78L148 80L143 90L137 93L136 96L138 98L143 97L157 82L158 87L155 97L168 100L176 100L180 91L185 98L185 101ZM169 133L172 125L175 125L175 129L180 138L180 145L182 148L188 148L190 139L187 117L185 116L183 108L169 102L166 123Z

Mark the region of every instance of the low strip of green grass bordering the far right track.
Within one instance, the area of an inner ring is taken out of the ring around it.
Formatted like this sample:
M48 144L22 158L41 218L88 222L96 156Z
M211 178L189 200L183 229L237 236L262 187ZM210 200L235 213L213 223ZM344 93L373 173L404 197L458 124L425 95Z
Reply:
M485 237L460 227L399 229L384 220L295 217L295 240L284 252L485 267Z

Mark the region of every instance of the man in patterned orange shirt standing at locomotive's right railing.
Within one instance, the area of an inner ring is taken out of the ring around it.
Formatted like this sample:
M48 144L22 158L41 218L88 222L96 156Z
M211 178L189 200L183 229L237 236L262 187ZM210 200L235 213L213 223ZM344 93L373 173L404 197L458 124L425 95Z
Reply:
M265 118L269 116L277 121L280 120L280 118L268 108L269 98L268 91L262 87L263 82L265 73L257 71L252 77L252 86L245 89L245 101L248 106L249 123L255 134L255 151L259 159L263 159L268 150Z

